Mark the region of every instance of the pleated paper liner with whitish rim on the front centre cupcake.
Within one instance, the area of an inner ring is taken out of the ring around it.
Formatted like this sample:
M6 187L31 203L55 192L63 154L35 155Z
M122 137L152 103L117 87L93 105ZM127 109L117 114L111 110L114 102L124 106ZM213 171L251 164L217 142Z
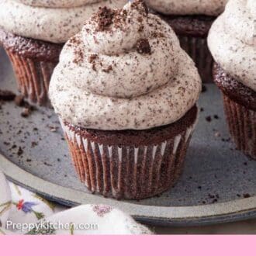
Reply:
M169 189L181 175L190 126L160 144L99 144L62 122L75 170L91 192L116 199L144 199Z

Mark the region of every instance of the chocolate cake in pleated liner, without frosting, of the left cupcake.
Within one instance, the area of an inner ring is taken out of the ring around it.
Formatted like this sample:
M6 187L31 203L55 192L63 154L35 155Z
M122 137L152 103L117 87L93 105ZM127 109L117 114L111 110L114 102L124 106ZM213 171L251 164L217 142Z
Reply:
M0 29L0 43L12 62L19 91L29 102L50 106L48 88L62 44L16 36Z

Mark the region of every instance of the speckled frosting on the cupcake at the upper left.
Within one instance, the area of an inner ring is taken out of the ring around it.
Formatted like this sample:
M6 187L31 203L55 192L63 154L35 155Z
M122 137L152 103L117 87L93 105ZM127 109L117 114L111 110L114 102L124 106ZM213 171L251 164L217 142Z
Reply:
M120 8L125 3L126 0L2 0L0 26L19 36L65 43L99 7Z

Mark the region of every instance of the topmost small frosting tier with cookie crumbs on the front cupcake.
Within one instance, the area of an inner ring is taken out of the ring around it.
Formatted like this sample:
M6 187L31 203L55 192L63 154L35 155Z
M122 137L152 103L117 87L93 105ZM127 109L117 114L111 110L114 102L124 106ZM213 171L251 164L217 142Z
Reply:
M108 55L131 50L147 26L146 8L139 2L137 5L129 3L122 10L99 9L82 29L85 45L92 51Z

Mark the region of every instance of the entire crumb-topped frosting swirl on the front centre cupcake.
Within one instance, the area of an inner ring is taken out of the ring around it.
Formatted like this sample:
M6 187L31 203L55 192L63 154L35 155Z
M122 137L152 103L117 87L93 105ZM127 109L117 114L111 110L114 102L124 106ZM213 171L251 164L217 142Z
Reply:
M65 44L49 94L55 112L73 125L144 130L182 118L200 88L170 26L135 1L100 9Z

